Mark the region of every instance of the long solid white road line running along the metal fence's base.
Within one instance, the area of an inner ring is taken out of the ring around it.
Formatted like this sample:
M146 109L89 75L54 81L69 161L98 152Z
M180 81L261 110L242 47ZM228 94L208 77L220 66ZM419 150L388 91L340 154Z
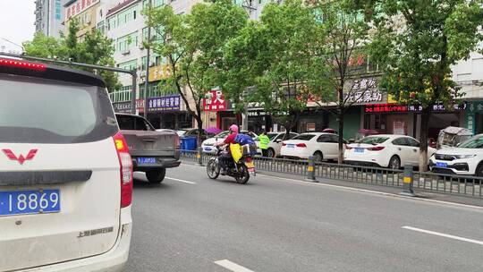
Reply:
M194 165L190 165L190 164L183 164L183 166L192 166L192 167L198 167L198 168L200 167L200 166L194 166ZM257 174L257 176L270 178L270 179L277 179L277 180L282 180L282 181L287 181L287 182L292 182L292 183L301 183L301 184L310 185L310 186L311 185L325 186L325 187L338 188L338 189L349 190L349 191L375 193L375 194L378 194L378 195L396 197L396 198L407 199L407 200L419 200L419 201L426 201L426 202L432 202L432 203L438 203L438 204L446 204L446 205L451 205L451 206L457 206L457 207L462 207L462 208L477 208L477 209L483 210L483 207L480 207L480 206L473 206L473 205L468 205L468 204L448 202L448 201L443 201L443 200L428 200L428 199L407 197L407 196L403 196L403 195L400 195L400 194L384 192L384 191L372 191L372 190L352 188L352 187L347 187L347 186L326 184L326 183L309 183L309 182L304 182L304 181L300 181L300 180L296 180L296 179L289 179L289 178L279 177L279 176L275 176L275 175L267 175L267 174Z

